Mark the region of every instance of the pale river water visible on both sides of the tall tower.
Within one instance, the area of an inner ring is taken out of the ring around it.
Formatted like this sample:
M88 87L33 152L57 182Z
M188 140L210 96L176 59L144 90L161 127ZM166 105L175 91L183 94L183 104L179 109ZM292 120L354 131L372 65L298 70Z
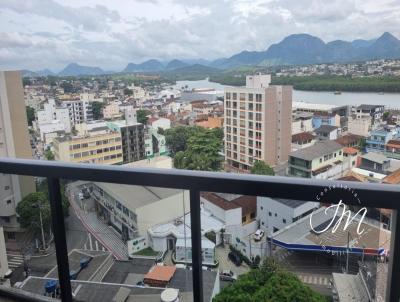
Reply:
M209 82L208 79L200 81L177 81L174 88L180 89L188 86L192 88L214 88L224 90L224 85ZM399 83L400 85L400 83ZM301 91L293 90L293 101L332 105L385 105L391 108L400 108L400 93L379 94L376 92L342 92L339 95L329 91Z

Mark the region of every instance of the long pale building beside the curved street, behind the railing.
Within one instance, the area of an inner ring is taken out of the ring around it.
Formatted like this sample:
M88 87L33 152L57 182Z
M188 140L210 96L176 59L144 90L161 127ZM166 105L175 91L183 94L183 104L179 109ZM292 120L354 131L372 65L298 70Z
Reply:
M123 240L145 237L154 225L168 223L189 209L189 192L176 189L93 183L92 196L98 214L121 235Z

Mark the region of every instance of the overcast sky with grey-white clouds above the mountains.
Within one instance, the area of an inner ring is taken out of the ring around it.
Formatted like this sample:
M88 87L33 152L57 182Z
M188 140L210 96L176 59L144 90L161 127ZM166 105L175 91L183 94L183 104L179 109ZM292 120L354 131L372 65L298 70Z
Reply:
M294 33L400 38L400 0L0 0L0 69L216 59Z

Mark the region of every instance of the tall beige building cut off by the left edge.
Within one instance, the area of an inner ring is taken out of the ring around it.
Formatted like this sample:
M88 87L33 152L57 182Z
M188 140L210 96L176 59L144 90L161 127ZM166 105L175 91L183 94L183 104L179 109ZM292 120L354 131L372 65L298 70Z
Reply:
M17 71L0 72L0 156L32 159L24 90ZM35 191L32 177L0 174L0 224L6 239L20 231L16 206Z

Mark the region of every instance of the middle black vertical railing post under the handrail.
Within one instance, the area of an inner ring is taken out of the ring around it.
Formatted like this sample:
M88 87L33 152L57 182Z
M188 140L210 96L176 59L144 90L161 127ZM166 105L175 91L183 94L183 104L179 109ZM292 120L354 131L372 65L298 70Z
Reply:
M193 301L203 302L200 191L190 190L190 226L192 232Z

